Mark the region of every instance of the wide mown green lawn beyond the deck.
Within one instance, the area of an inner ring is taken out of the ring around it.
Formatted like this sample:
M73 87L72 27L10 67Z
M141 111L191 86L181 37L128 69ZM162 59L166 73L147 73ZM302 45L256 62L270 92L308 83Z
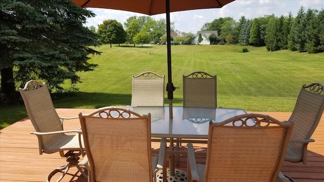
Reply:
M324 53L268 52L265 47L250 46L245 46L250 52L239 53L243 47L172 45L172 79L175 86L180 86L174 92L174 105L182 105L182 75L194 71L217 75L218 106L247 111L291 112L303 84L324 83ZM79 73L83 81L77 84L79 92L55 98L56 108L130 105L132 75L144 71L166 75L168 81L166 45L103 45L97 50L103 53L93 56L91 62L99 66L95 71ZM0 109L1 128L26 116L24 106Z

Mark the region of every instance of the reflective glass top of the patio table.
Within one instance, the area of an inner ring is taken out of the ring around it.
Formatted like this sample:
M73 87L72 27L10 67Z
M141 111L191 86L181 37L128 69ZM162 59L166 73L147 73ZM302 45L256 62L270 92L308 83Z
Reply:
M169 118L168 106L127 107L139 114L151 114L151 136L161 138L207 139L209 121L221 122L236 115L247 114L242 109L196 108L173 106Z

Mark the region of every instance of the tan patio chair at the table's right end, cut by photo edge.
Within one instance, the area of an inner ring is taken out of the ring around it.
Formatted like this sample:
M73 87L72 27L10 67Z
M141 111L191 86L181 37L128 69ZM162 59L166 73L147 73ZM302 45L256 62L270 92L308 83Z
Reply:
M288 145L286 160L290 162L307 162L307 145L315 142L310 139L324 110L324 86L321 83L304 84L298 95L290 121L294 129Z

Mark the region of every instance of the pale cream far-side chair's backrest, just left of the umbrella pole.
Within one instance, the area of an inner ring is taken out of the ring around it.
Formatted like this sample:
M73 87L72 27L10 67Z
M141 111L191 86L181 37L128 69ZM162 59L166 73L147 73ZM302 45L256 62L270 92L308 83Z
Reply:
M132 106L164 106L164 75L147 71L133 75Z

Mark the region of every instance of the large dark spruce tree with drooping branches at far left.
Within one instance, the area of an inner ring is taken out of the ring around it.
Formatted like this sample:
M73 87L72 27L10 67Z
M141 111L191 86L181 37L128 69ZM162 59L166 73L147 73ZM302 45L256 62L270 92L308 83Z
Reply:
M49 88L63 90L65 80L77 89L76 74L91 71L89 54L100 54L98 34L83 26L91 11L69 0L3 0L0 4L1 89L7 95L29 79L46 81Z

